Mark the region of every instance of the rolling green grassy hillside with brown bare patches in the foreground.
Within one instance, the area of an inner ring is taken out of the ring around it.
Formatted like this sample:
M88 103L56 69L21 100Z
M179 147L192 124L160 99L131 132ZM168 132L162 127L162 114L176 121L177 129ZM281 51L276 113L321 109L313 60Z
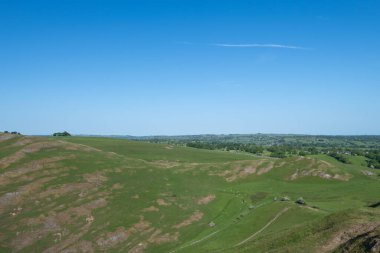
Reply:
M0 252L367 252L380 176L363 159L3 134Z

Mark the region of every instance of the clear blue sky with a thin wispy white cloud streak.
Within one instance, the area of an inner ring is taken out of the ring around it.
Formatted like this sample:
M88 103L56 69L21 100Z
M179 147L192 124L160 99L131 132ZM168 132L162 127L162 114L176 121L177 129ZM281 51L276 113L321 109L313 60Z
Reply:
M380 134L380 1L0 0L0 131Z

